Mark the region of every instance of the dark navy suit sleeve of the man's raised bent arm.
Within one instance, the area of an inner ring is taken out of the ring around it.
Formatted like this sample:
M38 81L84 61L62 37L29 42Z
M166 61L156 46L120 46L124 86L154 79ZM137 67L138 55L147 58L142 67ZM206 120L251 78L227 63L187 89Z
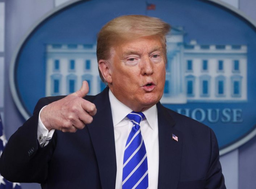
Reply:
M7 180L19 183L43 183L56 145L56 133L49 144L41 147L37 140L38 116L41 108L50 104L41 98L33 116L10 137L0 158L0 173Z

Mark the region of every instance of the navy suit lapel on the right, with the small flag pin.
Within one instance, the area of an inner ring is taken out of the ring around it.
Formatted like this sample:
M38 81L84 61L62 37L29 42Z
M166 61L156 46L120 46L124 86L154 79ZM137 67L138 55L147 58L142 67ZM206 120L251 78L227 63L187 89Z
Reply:
M157 107L159 132L158 188L176 189L180 176L182 132L173 128L174 120L160 103L157 104ZM172 139L172 134L178 137L178 141Z

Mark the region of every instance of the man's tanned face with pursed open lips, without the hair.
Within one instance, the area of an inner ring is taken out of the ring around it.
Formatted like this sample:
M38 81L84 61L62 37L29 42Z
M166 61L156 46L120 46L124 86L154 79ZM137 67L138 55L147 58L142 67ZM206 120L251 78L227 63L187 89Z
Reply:
M109 88L119 101L134 111L159 102L165 82L164 49L159 38L127 41L112 49L109 62Z

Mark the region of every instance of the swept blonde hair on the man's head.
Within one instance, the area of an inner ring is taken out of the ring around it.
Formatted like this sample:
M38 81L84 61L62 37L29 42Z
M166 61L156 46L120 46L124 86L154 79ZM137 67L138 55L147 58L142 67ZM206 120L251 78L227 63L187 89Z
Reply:
M143 36L156 36L160 39L166 57L166 38L171 26L159 18L143 15L128 15L114 18L106 23L98 33L97 60L108 60L110 49L125 40ZM100 78L105 82L99 70Z

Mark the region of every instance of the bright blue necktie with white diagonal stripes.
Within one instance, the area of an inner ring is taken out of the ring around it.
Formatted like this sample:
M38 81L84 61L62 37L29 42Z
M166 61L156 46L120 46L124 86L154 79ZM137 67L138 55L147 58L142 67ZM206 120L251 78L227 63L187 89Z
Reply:
M125 145L123 156L123 189L148 188L148 166L145 144L140 132L139 123L145 118L141 112L131 112L127 118L133 123L133 127Z

